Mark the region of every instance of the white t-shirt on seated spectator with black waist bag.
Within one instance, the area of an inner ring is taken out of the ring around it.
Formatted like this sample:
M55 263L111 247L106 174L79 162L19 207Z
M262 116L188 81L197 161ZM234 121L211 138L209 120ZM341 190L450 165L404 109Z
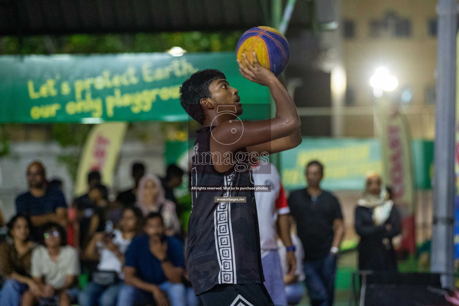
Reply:
M121 254L126 253L131 239L124 239L123 233L120 230L115 229L113 231L115 237L113 237L113 244L118 245ZM101 255L97 270L99 271L115 271L118 273L119 278L124 278L122 274L123 263L119 261L118 257L111 250L108 250L102 242L97 242L97 251Z

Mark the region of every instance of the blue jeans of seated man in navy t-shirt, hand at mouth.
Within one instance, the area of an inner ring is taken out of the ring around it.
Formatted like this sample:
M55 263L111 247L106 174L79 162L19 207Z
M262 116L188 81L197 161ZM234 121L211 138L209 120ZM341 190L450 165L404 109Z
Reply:
M184 284L172 284L164 282L159 285L164 290L171 305L186 306L186 289ZM153 295L137 287L123 285L118 294L118 306L134 306L135 304L144 304L153 301Z

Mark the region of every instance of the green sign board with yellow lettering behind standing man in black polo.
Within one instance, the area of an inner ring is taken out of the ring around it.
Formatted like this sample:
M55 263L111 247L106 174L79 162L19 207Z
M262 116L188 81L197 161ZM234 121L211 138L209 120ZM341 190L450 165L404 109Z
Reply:
M431 188L433 142L413 141L416 188ZM381 144L377 139L303 138L297 148L282 152L282 182L287 189L306 186L305 166L318 160L325 166L322 188L363 190L368 172L381 173Z

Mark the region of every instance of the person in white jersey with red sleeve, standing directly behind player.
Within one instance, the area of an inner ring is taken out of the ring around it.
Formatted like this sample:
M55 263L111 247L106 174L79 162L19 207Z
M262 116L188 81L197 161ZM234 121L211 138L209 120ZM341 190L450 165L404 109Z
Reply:
M284 243L288 273L296 270L295 246L290 237L290 208L287 206L285 191L274 165L259 161L252 166L254 185L270 185L270 192L255 192L258 226L260 228L261 261L264 285L275 306L286 306L284 278L277 252L277 234ZM278 225L278 226L277 226ZM279 233L277 233L277 229Z

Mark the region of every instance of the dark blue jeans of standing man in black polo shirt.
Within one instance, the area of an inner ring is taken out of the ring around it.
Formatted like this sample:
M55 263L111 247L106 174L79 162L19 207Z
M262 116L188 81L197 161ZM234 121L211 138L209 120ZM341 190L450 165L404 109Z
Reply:
M311 306L332 306L335 294L336 255L304 262L304 280Z

